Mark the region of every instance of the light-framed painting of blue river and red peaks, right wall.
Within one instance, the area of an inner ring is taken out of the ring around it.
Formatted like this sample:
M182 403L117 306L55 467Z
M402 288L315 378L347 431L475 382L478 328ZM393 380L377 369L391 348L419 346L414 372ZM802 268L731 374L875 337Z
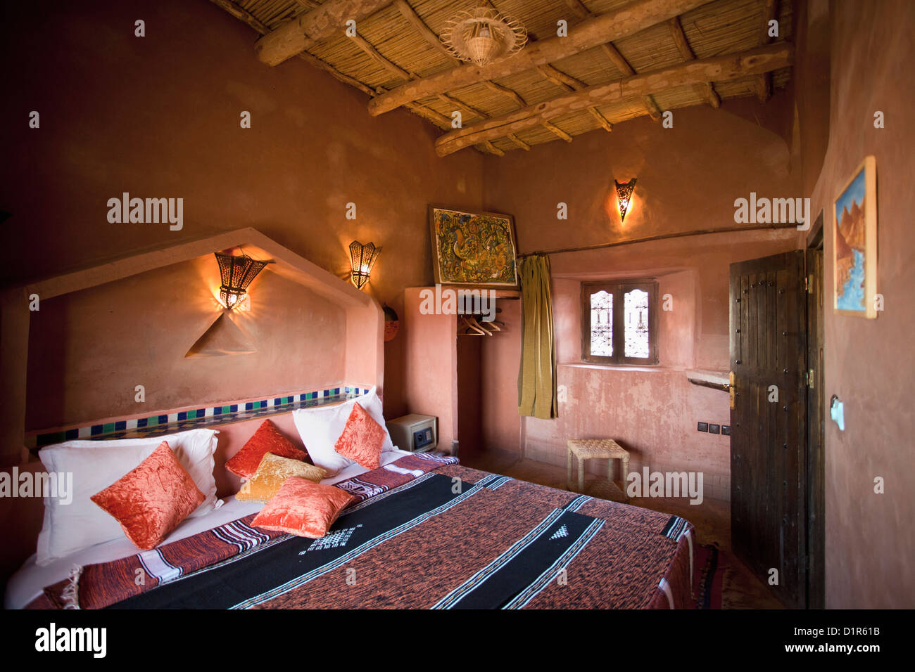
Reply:
M833 203L833 309L877 317L877 162L867 156Z

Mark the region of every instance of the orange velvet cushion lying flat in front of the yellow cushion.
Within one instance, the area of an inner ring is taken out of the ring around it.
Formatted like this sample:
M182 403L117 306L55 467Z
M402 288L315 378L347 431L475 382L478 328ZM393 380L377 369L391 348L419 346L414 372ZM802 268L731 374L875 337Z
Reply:
M298 537L320 539L328 533L340 511L355 500L356 497L339 487L292 476L285 480L251 524Z

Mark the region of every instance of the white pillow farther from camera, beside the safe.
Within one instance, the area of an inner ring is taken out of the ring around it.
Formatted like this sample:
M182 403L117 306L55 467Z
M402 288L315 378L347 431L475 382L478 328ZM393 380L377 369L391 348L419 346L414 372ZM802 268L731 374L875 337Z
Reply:
M375 388L370 389L361 397L344 401L334 406L318 406L312 409L297 409L292 411L292 419L296 423L298 435L302 437L302 443L305 443L308 455L311 461L322 469L327 470L330 474L336 474L341 469L345 469L350 464L356 464L352 460L343 457L334 450L343 428L346 427L346 421L350 419L353 404L359 402L359 405L368 411L372 419L384 429L384 445L382 453L393 451L394 446L391 442L391 435L388 428L384 425L384 416L382 415L382 400L378 399Z

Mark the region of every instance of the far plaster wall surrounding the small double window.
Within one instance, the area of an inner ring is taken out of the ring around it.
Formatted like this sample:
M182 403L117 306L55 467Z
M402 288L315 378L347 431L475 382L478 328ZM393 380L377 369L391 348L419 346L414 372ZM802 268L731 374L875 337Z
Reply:
M802 195L789 177L789 104L784 94L764 107L727 101L718 111L674 112L673 129L638 119L487 159L486 200L515 216L521 251L735 226L737 197ZM613 178L631 176L635 203L620 223ZM556 219L559 202L567 221ZM510 352L506 339L489 358L484 348L484 443L565 465L567 439L609 436L630 450L631 468L703 471L705 496L729 499L728 439L696 431L697 421L729 421L727 394L692 385L684 371L727 370L729 264L791 250L795 240L793 230L744 232L551 255L557 383L568 400L554 421L521 419L517 345ZM659 296L673 298L673 312L659 313L660 366L582 366L580 283L643 277L657 277Z

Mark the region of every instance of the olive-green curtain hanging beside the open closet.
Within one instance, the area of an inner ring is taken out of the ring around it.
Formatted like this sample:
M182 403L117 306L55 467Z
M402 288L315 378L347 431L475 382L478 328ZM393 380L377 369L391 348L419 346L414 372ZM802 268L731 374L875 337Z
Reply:
M550 260L545 255L518 262L522 298L522 350L518 371L518 411L549 420L556 417L556 365Z

